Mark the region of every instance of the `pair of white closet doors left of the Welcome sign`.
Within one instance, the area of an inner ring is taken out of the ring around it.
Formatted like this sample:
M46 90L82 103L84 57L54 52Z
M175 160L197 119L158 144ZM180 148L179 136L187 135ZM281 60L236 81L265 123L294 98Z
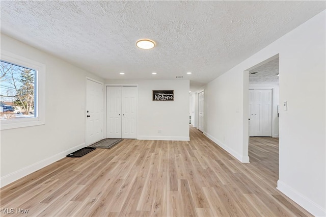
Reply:
M137 138L137 87L106 87L106 138Z

